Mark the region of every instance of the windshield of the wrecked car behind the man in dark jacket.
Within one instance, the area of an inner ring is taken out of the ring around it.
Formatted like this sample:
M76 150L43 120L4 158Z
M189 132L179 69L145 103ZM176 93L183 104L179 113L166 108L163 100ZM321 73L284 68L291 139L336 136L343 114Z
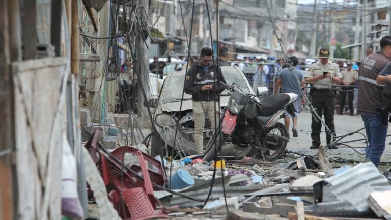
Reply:
M250 93L250 89L246 84L246 79L240 74L238 71L225 71L222 73L228 85L232 85L233 82L240 85L240 88L244 91L244 93ZM184 75L181 76L172 76L170 78L166 78L165 81L165 89L162 102L175 102L181 101L182 91L183 91L183 83L184 83ZM228 95L228 90L224 90L221 95ZM184 94L184 100L190 100L191 95Z

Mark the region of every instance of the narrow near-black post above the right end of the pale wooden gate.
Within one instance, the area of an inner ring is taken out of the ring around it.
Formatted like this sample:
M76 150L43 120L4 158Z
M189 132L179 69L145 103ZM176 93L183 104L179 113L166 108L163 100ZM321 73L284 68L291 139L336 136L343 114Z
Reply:
M27 0L29 1L29 0ZM74 2L74 1L73 1ZM76 1L77 2L77 1ZM62 1L51 1L51 25L50 25L50 42L54 46L55 56L60 57L61 52L61 16Z

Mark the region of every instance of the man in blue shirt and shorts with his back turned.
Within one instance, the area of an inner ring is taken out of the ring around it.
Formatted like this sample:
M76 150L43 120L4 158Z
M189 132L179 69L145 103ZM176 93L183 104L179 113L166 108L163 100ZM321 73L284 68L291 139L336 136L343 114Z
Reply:
M282 69L277 76L277 81L275 82L275 92L280 92L280 85L281 85L281 92L282 93L295 93L298 95L296 101L293 103L293 106L295 107L295 115L291 116L287 111L285 111L285 127L287 128L289 132L289 124L290 124L290 118L292 118L293 121L293 127L292 127L292 133L294 137L297 137L297 120L299 116L299 112L301 111L301 88L305 86L304 77L301 70L298 70L296 68L297 64L299 63L299 60L297 57L293 56L290 58L294 68L292 70L289 69L289 67L286 67Z

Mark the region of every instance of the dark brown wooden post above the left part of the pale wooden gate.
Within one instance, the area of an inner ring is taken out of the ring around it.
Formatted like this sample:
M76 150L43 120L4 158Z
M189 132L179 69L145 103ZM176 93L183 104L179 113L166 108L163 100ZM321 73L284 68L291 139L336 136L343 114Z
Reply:
M24 60L37 58L37 5L36 0L24 0L23 17L23 58Z

